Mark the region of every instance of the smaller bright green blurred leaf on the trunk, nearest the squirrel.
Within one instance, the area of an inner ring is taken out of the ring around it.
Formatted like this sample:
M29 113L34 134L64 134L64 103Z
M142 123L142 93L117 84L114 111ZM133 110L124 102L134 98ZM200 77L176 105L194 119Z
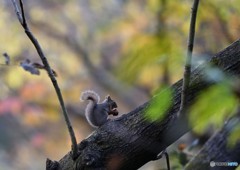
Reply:
M171 106L172 89L166 88L153 97L150 106L145 112L145 117L152 122L161 121Z

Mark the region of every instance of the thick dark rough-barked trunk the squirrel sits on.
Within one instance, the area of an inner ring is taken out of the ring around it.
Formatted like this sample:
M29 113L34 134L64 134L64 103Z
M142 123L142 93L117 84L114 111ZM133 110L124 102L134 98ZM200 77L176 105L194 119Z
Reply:
M240 40L216 54L209 62L227 74L240 77ZM215 83L205 79L204 67L199 66L192 71L188 107L201 91ZM107 122L83 140L78 145L80 154L75 161L68 153L58 162L47 160L47 169L137 169L156 159L159 152L192 128L186 118L177 117L181 86L182 80L171 86L173 105L162 121L149 122L145 118L146 108L154 101L151 99L130 113Z

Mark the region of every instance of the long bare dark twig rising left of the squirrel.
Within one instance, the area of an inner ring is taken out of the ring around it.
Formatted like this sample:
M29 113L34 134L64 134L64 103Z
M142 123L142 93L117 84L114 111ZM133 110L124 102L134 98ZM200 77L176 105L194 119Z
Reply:
M54 77L53 70L50 67L50 65L48 64L48 60L45 57L40 44L38 43L38 41L34 37L34 35L31 33L30 29L28 28L28 25L27 25L27 22L26 22L26 19L25 19L25 14L24 14L24 8L23 8L22 0L19 0L20 8L21 8L21 14L19 12L18 5L17 5L16 1L12 0L12 3L14 5L15 12L16 12L17 17L19 19L19 22L21 23L22 27L24 28L24 31L27 34L28 38L31 40L31 42L35 46L35 48L36 48L36 50L38 52L38 55L41 58L42 63L44 64L44 66L45 66L45 68L46 68L46 70L48 72L48 75L49 75L49 77L50 77L50 79L52 81L52 84L53 84L53 86L55 88L55 91L57 93L57 97L58 97L59 103L61 105L61 109L63 111L64 119L65 119L65 122L67 124L67 128L68 128L68 131L69 131L69 134L70 134L70 137L71 137L71 141L72 141L72 157L73 157L73 159L75 159L77 157L77 155L78 155L78 153L77 153L77 141L76 141L76 137L75 137L75 134L74 134L71 122L70 122L70 120L68 118L68 113L67 113L67 110L66 110L66 107L65 107L65 104L64 104L64 100L63 100L63 97L62 97L62 94L61 94L61 90L60 90L60 88L58 86L56 78Z

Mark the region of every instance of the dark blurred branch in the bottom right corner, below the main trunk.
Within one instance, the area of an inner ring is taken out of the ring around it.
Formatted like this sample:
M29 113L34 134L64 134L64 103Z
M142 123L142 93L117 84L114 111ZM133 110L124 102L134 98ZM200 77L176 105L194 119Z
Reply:
M230 132L240 123L239 117L228 121L223 129L212 136L200 152L185 167L185 170L231 170L236 166L210 166L210 162L240 162L240 143L233 148L227 146Z

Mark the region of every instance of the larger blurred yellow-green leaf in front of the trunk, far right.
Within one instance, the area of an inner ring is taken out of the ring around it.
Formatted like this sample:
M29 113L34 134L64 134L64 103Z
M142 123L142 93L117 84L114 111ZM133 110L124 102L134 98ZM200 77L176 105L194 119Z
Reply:
M189 120L192 126L197 124L195 131L203 133L210 124L220 127L236 109L237 99L230 85L221 83L213 85L198 97L190 108Z

